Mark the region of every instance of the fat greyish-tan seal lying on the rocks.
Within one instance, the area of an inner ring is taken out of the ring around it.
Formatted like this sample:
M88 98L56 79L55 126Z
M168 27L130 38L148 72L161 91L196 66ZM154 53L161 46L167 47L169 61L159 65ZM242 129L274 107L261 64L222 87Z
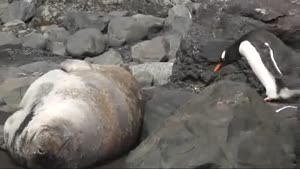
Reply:
M12 159L28 168L85 168L133 148L144 102L131 73L80 60L61 66L32 83L5 122Z

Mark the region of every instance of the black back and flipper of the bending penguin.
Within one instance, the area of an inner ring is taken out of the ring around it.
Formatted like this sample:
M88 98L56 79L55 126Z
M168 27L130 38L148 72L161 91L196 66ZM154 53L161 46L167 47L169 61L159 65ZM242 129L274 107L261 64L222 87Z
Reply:
M297 63L300 63L300 58L298 58L297 61L297 58L295 58L295 52L291 48L286 46L274 34L263 29L256 29L250 31L249 33L239 38L228 49L226 49L226 53L230 55L231 59L235 60L238 57L242 57L239 54L239 46L241 42L246 40L249 41L256 48L257 52L261 56L264 65L275 77L279 77L281 76L281 74L276 70L274 63L271 60L270 50L265 45L265 43L268 43L270 48L272 49L273 57L281 73L283 75L290 75L295 73L294 68L296 67Z

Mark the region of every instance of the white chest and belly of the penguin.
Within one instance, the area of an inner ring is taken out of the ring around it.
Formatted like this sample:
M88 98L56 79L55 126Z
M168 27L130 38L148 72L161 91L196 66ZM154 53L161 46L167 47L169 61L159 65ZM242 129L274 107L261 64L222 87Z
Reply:
M266 88L267 96L278 98L275 78L262 62L255 47L249 41L243 41L240 44L239 52L247 59L252 71Z

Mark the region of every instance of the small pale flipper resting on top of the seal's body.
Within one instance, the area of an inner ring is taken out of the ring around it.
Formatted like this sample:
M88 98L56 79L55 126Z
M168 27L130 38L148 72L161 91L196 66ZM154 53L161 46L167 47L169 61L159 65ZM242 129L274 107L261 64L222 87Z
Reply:
M92 69L90 63L79 59L66 59L60 64L60 67L65 72L75 72Z

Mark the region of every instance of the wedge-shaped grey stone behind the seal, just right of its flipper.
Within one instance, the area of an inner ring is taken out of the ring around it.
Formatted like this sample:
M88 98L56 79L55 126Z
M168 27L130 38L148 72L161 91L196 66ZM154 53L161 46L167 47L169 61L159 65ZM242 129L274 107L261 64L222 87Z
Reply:
M103 53L100 56L86 58L85 60L90 63L100 65L118 65L124 63L120 53L115 51L114 49L110 49L109 51Z

